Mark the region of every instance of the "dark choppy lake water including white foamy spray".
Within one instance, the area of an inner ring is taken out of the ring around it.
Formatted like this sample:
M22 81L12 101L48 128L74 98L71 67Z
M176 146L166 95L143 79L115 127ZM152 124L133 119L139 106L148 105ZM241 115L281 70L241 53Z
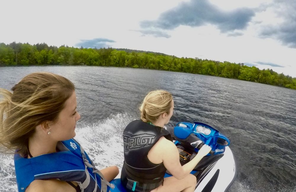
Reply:
M26 74L49 71L76 86L81 121L76 139L98 168L123 164L122 131L139 116L147 92L173 94L168 126L202 121L231 141L238 178L229 191L296 191L296 91L220 77L144 69L30 66L0 67L0 87ZM13 155L0 154L0 191L17 191Z

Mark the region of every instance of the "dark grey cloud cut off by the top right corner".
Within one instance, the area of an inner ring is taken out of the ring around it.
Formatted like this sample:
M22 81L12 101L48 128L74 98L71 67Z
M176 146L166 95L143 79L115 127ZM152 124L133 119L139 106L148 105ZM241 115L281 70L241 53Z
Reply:
M263 26L260 36L274 38L290 48L296 48L296 1L275 0L271 6L284 22Z

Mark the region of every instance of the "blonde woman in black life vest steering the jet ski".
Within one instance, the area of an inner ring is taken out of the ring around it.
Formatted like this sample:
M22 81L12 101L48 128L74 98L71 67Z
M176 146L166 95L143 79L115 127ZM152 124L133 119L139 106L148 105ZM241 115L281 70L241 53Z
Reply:
M190 172L211 148L204 145L190 162L181 166L178 149L164 128L173 109L169 92L149 92L140 107L141 119L132 121L124 129L121 182L127 191L194 191L196 178ZM166 170L173 176L163 178Z

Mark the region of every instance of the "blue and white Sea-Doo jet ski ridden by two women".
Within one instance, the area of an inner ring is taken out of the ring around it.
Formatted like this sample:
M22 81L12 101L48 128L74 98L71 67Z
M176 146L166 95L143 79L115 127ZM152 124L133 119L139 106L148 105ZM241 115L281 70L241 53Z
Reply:
M207 144L212 148L191 172L197 180L194 192L221 192L229 189L236 179L237 167L226 136L215 127L202 122L181 122L167 130L174 138L181 165L192 160L202 145ZM170 176L172 175L167 171L165 177ZM110 189L111 192L126 192L120 178L110 183L115 186Z

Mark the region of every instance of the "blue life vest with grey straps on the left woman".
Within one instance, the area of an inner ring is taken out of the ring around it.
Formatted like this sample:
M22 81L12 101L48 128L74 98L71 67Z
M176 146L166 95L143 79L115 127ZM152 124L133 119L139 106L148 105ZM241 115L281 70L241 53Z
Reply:
M62 151L33 158L15 154L15 175L19 192L24 192L33 180L59 179L78 183L81 192L109 191L114 188L104 179L94 163L75 139L61 141ZM102 190L101 190L102 188Z

